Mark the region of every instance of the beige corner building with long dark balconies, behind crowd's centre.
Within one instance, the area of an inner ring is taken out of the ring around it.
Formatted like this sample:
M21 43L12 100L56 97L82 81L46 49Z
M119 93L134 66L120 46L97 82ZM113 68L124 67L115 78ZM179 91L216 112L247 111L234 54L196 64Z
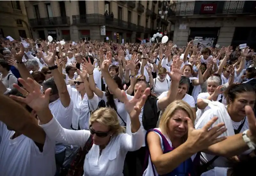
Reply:
M161 2L161 1L160 1ZM26 1L33 38L149 41L159 25L158 1ZM166 15L167 17L167 15ZM157 22L158 21L158 22ZM168 21L161 20L162 29ZM105 35L101 29L105 26Z

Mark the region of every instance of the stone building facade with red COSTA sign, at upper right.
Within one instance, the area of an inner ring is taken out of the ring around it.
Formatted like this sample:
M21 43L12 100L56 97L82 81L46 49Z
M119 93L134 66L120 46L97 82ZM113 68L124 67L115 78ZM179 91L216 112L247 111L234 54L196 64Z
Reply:
M256 47L256 1L174 1L168 20L178 46L197 36L213 46Z

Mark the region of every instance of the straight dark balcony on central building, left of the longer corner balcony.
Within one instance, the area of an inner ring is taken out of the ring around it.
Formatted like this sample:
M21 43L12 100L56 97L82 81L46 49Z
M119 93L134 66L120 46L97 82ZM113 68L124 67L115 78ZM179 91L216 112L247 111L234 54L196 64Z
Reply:
M69 26L69 17L51 17L40 19L29 19L30 26L33 27L50 27L50 26Z

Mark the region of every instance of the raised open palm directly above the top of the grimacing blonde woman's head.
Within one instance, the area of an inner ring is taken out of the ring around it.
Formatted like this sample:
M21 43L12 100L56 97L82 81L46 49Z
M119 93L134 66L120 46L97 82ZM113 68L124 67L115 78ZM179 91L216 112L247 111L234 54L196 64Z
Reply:
M180 78L183 74L182 70L180 70L181 64L182 64L182 60L180 60L180 58L178 59L175 58L172 62L172 71L171 72L167 71L167 74L170 76L172 81L177 81L177 82L180 81Z

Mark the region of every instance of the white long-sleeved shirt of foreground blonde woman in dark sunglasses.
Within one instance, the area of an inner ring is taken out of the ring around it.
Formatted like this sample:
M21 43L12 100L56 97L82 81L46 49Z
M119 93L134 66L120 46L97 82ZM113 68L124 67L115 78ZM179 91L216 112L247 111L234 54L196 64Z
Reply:
M130 126L130 123L127 124ZM84 144L90 136L87 130L67 130L52 118L42 125L46 134L53 140L61 143L78 145L84 148ZM100 155L100 147L93 144L84 160L84 176L123 176L124 159L128 151L135 151L141 147L143 133L139 129L132 135L120 133L112 136L106 148Z

